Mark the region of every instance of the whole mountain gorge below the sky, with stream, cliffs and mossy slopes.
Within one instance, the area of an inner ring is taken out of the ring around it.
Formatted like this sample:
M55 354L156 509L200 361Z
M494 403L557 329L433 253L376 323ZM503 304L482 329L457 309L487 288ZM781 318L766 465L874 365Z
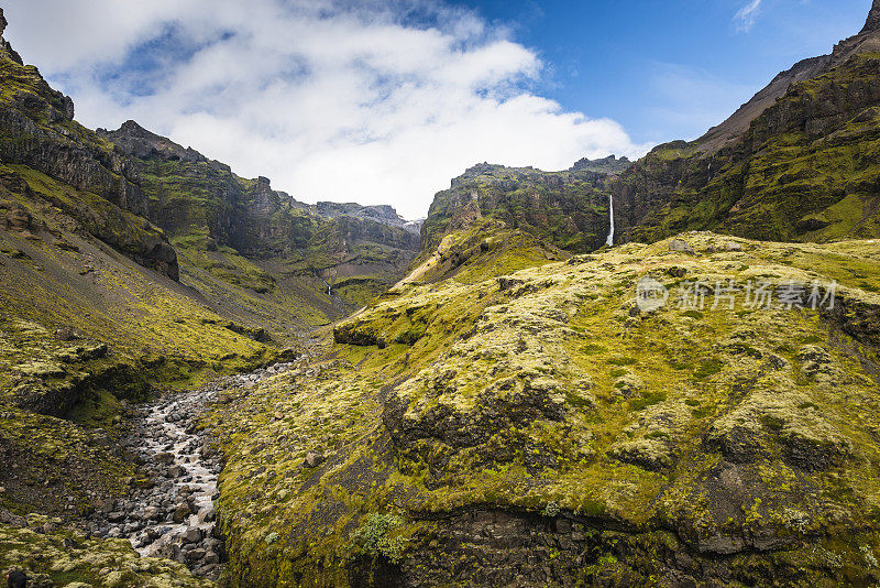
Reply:
M696 141L408 222L88 130L3 41L0 567L877 585L878 66L880 0Z

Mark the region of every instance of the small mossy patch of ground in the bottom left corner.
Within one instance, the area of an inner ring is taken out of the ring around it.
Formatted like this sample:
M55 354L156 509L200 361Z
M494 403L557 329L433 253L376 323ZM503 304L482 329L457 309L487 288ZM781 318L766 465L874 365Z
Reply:
M140 557L125 540L87 540L58 530L45 516L28 518L29 527L0 525L0 569L24 570L55 586L86 588L207 588L183 564ZM44 525L55 527L46 533Z

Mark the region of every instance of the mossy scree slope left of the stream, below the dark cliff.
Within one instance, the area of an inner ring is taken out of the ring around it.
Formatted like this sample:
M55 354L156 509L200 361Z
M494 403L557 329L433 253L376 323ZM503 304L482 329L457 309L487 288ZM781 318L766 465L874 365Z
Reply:
M209 303L94 238L55 204L70 198L86 209L86 196L33 171L24 176L32 188L0 200L26 220L0 229L2 503L67 518L127 491L133 470L117 444L127 403L273 361L297 327L270 342L260 318L286 322L280 303L242 296L242 309L219 281L226 304ZM98 210L112 206L95 198Z

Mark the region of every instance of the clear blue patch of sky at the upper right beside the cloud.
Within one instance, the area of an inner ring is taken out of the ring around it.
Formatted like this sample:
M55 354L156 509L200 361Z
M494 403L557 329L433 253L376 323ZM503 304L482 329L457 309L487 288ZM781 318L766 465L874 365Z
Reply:
M634 141L693 139L795 62L858 32L869 0L482 0L547 62L541 94L620 122Z

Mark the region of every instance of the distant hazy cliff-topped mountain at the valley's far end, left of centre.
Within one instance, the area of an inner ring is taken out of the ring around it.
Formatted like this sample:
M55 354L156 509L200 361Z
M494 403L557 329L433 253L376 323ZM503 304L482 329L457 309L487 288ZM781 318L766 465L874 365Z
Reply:
M132 157L148 218L191 265L282 304L300 300L323 322L393 284L418 251L418 235L391 207L299 203L134 121L98 135Z

